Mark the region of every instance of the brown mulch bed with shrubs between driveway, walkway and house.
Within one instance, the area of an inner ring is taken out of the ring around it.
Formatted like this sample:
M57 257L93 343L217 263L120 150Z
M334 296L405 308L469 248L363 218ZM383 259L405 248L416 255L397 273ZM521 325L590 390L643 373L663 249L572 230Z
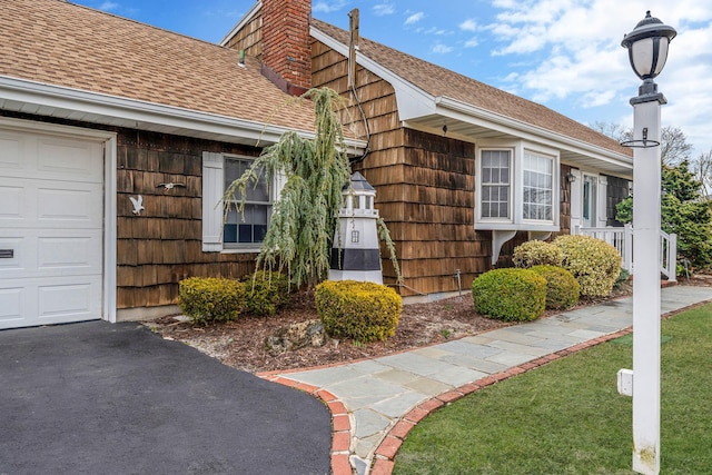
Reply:
M680 283L688 284L684 278ZM712 276L696 276L690 285L712 286ZM624 284L611 296L582 300L577 307L599 305L631 294L632 286ZM558 311L547 310L543 318L555 314ZM209 325L192 325L189 321L178 321L174 317L162 317L147 321L146 325L165 338L185 342L228 366L250 373L306 368L385 356L513 325L478 315L472 297L464 295L434 303L405 305L396 334L386 342L358 344L348 339L329 339L323 347L281 354L270 353L266 348L265 339L277 329L316 318L318 316L314 293L300 291L293 296L287 308L273 317L241 315L235 321Z

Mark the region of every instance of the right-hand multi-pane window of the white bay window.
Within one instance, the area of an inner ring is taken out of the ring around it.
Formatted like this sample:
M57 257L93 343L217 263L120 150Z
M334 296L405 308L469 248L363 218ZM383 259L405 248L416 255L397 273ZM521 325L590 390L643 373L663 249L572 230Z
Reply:
M551 221L554 191L553 160L525 151L523 161L523 218Z

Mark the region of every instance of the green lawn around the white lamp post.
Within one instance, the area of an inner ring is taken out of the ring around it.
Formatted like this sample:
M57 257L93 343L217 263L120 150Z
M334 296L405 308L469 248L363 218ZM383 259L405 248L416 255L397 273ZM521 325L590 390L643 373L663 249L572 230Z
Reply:
M661 473L712 474L712 305L663 321ZM394 474L631 474L632 398L612 340L473 393L419 423Z

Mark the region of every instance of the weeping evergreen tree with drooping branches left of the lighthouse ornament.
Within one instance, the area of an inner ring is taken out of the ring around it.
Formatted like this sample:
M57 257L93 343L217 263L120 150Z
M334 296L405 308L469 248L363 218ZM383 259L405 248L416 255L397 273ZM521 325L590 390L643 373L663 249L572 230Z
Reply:
M257 269L286 269L296 286L315 286L328 277L342 189L350 180L350 166L338 118L345 99L328 88L312 89L305 97L314 101L316 137L305 139L293 131L284 133L226 189L222 202L226 217L233 197L237 198L235 206L241 212L248 186L257 184L260 177L271 184L275 176L284 174L285 186L274 204ZM387 236L386 241L389 240ZM396 273L399 275L399 270Z

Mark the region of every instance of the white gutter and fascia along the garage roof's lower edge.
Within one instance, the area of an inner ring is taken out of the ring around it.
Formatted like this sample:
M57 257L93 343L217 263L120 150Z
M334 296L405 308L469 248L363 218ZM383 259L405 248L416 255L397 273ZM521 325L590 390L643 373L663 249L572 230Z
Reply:
M146 128L150 125L177 130L199 132L201 137L235 137L240 141L274 144L290 128L266 125L251 120L199 112L172 106L164 106L117 96L83 91L61 86L0 76L0 99L19 103L39 105L67 111L78 111L81 116L93 116L99 123L122 127ZM102 120L103 119L103 120ZM119 119L118 121L116 119ZM314 132L297 130L305 138L314 138ZM347 140L349 149L363 149L360 140Z

